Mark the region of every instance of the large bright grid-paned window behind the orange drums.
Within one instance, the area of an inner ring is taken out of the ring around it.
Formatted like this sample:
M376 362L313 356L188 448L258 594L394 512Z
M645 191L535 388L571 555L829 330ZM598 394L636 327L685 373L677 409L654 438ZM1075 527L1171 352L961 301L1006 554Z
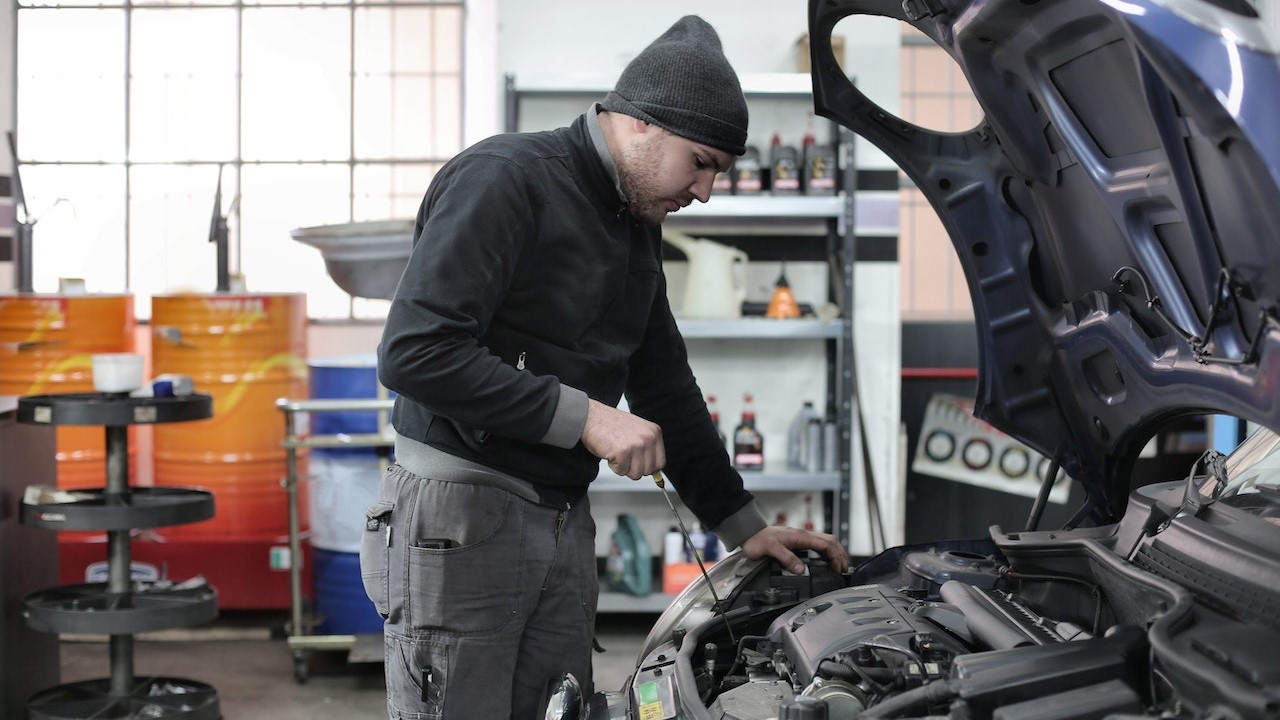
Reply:
M218 290L215 193L250 292L380 318L297 227L407 218L462 143L463 3L18 0L32 279Z

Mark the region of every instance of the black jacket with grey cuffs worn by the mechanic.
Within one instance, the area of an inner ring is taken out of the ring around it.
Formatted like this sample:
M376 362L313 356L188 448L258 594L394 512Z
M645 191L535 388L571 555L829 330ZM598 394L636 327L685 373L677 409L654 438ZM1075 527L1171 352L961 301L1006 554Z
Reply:
M540 442L561 384L663 429L667 474L709 527L751 495L728 462L667 304L658 227L634 219L586 126L484 140L431 182L378 374L396 430L544 487L599 459Z

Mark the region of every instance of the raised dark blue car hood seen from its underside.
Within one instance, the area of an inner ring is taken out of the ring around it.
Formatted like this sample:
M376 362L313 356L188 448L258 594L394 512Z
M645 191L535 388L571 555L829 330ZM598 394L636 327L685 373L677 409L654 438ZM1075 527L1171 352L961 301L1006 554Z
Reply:
M986 118L877 106L831 49L855 14L943 47ZM1096 520L1169 420L1280 428L1280 63L1244 0L810 0L817 111L920 187L964 268L974 414L1082 482Z

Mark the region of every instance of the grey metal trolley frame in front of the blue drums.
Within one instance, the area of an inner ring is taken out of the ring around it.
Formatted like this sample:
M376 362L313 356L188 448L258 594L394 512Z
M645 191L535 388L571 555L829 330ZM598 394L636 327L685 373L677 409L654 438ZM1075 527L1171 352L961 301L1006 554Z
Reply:
M380 448L378 469L384 470L388 464L389 452L394 439L392 434L375 433L335 433L311 434L302 420L310 419L316 413L378 413L376 428L388 427L388 414L392 409L392 400L388 398L333 398L333 400L276 400L275 406L284 413L284 450L285 450L285 480L284 487L289 505L289 555L293 559L302 557L302 532L301 515L298 509L298 448L316 447L374 447ZM351 509L360 514L364 509ZM361 515L362 516L362 515ZM312 528L314 529L314 528ZM293 652L293 678L298 683L306 683L308 678L308 656L311 651L346 651L349 662L371 662L383 660L381 633L343 633L343 634L311 634L311 629L317 624L314 614L308 612L306 598L302 594L302 568L301 562L289 564L289 591L291 591L291 618L288 644Z

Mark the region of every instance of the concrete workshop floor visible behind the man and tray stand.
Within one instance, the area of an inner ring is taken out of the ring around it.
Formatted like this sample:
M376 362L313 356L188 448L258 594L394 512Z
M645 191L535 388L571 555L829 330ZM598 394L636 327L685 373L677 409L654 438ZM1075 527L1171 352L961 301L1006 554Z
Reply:
M631 674L654 615L600 615L596 687L620 689ZM344 652L307 653L308 679L298 683L283 637L287 612L224 612L214 623L134 638L137 678L159 675L211 685L224 720L375 720L387 717L380 662L351 664ZM104 637L60 643L61 682L110 676Z

